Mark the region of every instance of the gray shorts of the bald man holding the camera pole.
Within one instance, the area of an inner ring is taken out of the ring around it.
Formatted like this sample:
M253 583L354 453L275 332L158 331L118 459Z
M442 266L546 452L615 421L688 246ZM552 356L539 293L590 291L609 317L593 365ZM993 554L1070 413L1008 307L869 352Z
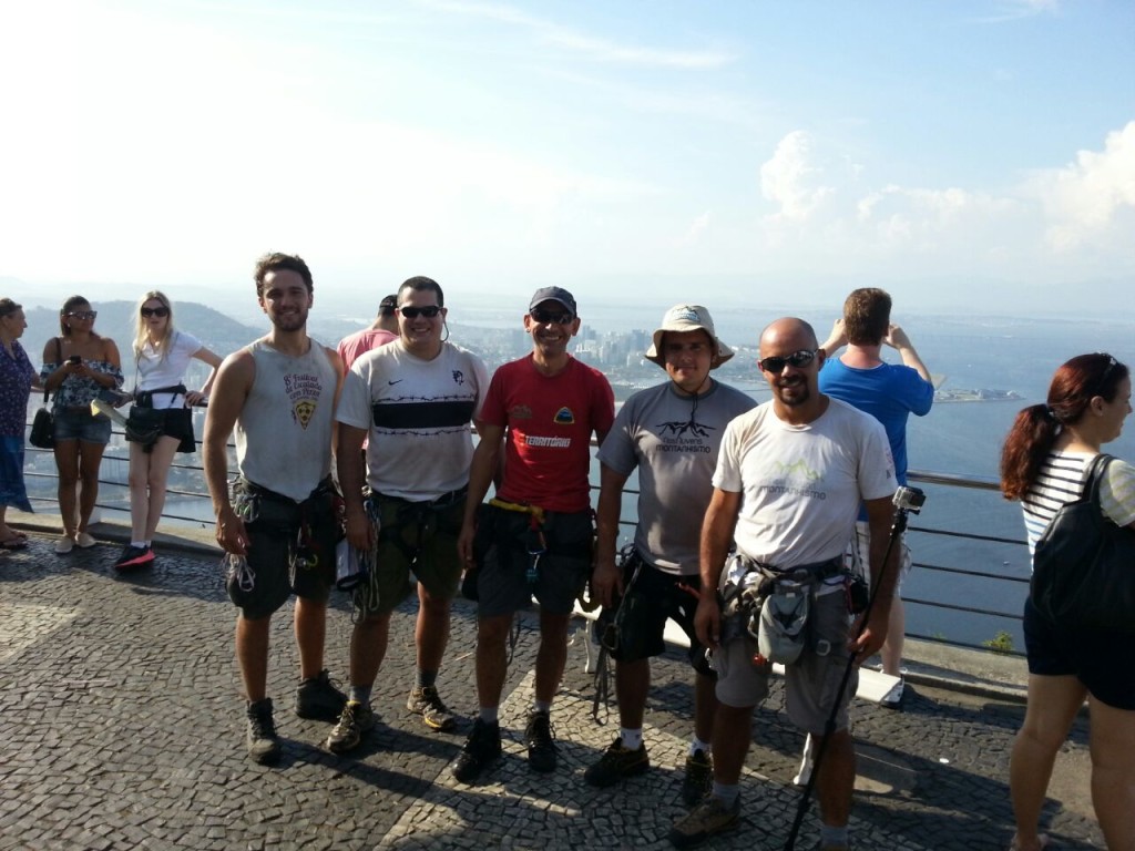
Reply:
M847 668L847 641L851 617L841 591L825 593L812 601L808 643L800 658L784 666L785 709L800 730L823 735L827 716L835 702L843 671ZM819 656L817 643L826 641L829 652ZM731 639L713 655L717 671L717 699L732 707L757 706L768 697L771 666L753 664L757 641L747 632ZM848 705L859 688L859 672L854 669L835 714L835 728L848 726Z

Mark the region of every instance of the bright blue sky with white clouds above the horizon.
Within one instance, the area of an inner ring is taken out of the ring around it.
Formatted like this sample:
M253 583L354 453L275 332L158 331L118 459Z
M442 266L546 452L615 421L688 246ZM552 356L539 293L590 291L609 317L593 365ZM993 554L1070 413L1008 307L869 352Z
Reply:
M0 81L24 303L1135 312L1126 0L0 0Z

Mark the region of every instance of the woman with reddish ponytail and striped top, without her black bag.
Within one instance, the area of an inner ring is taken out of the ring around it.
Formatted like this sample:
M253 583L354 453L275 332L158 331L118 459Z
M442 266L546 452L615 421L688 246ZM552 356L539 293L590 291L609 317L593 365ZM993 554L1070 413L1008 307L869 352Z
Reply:
M1001 452L1001 490L1019 499L1029 551L1066 503L1083 491L1100 446L1132 412L1127 366L1109 354L1073 357L1052 377L1046 404L1019 414ZM1100 480L1103 514L1135 528L1135 467L1116 458ZM1135 570L1135 565L1132 565ZM1132 613L1135 618L1135 612ZM1092 803L1110 849L1135 849L1135 654L1130 633L1051 621L1025 603L1028 707L1012 745L1009 791L1017 834L1011 849L1049 844L1039 832L1057 751L1076 714L1091 708Z

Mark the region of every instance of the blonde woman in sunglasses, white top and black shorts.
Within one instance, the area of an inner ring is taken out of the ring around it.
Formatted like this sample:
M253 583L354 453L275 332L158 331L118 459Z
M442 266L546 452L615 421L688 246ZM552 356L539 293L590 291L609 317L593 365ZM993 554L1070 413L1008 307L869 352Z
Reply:
M193 359L212 371L200 390L186 390L185 371ZM196 449L190 406L208 401L220 357L191 334L174 329L169 300L153 290L138 302L134 337L134 404L165 411L161 437L152 446L131 444L131 542L115 567L136 570L153 563L153 533L166 505L166 480L174 453Z

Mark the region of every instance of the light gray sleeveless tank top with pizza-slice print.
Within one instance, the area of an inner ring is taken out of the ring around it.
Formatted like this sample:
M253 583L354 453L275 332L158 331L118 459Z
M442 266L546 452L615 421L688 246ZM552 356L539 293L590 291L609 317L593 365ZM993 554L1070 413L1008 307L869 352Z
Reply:
M236 418L237 466L249 481L302 502L331 470L335 366L314 340L300 357L264 340L247 348L257 376Z

